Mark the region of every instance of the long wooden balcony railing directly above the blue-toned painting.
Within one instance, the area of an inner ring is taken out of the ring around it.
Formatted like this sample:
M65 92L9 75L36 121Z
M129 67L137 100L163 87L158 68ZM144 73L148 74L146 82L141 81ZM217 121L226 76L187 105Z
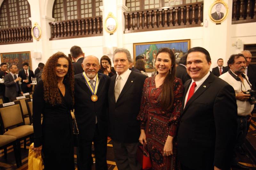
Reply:
M195 27L203 22L203 2L124 12L124 17L124 33Z

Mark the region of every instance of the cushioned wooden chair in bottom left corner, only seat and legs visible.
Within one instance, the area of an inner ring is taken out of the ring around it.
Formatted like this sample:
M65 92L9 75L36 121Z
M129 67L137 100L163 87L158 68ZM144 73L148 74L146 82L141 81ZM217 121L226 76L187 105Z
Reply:
M8 135L0 135L0 150L4 149L4 159L7 159L7 147L13 146L14 156L17 167L20 166L20 150L17 148L17 138Z

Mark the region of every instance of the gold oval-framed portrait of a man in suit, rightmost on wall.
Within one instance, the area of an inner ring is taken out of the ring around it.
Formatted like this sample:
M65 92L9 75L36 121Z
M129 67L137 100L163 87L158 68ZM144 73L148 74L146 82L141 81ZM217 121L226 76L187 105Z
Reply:
M209 17L214 23L223 22L228 16L228 5L222 0L215 0L209 8Z

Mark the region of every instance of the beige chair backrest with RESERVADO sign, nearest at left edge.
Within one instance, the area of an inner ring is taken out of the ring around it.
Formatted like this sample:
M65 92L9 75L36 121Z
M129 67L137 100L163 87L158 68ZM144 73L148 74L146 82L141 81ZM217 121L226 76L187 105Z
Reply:
M0 104L0 124L3 132L15 125L24 125L20 101Z

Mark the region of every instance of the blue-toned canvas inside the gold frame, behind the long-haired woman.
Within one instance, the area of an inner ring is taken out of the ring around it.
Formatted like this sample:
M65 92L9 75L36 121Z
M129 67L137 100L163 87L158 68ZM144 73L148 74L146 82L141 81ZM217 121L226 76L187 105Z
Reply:
M141 55L144 57L145 68L154 69L156 54L159 48L167 47L172 49L176 58L183 56L187 51L189 42L170 42L170 43L152 43L145 45L135 45L135 56ZM134 49L133 49L134 50Z

